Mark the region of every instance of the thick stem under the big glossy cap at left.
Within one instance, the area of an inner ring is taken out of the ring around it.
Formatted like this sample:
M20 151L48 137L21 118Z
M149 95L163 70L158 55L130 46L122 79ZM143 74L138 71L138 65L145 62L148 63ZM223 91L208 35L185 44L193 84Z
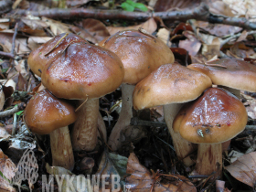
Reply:
M83 101L80 101L80 104ZM71 140L74 151L92 151L97 142L97 121L99 99L89 99L80 108L78 119L74 123Z

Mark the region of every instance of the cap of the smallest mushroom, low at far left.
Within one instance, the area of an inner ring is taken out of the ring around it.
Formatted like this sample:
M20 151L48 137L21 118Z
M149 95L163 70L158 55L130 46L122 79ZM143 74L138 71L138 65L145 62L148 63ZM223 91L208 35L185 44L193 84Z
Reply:
M54 97L48 90L42 90L27 103L24 118L32 133L48 134L74 123L77 114L69 102Z

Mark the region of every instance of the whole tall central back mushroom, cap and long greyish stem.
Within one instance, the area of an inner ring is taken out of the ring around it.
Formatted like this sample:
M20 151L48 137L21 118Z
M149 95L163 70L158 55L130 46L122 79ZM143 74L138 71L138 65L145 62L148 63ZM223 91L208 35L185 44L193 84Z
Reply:
M127 30L101 41L99 46L112 50L123 62L122 110L115 123L108 144L116 151L121 147L120 133L130 125L133 117L133 89L160 65L174 62L170 48L144 29Z

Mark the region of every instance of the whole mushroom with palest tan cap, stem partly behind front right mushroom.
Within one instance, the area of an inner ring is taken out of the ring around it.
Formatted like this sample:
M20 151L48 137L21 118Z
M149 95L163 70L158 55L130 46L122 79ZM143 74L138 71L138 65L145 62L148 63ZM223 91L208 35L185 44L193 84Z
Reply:
M187 69L179 64L165 64L155 69L144 80L137 83L133 91L133 107L142 110L164 105L165 123L172 136L178 159L183 160L194 150L194 146L173 130L173 120L182 104L193 101L211 87L211 80L203 73ZM185 165L192 165L190 158Z

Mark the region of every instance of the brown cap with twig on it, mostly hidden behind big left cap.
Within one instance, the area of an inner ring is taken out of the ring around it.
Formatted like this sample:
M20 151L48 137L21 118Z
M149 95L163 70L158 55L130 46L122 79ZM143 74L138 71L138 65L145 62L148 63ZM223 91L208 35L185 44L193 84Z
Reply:
M39 70L43 70L44 66L48 63L50 59L56 57L61 50L66 48L70 42L87 42L85 39L69 33L67 37L64 37L65 33L60 34L59 36L53 37L48 42L40 46L39 48L33 50L27 59L27 64L29 68L37 74L39 77L41 76L41 72ZM61 37L64 37L60 42ZM54 46L59 42L56 48ZM52 48L54 48L51 52L48 53ZM47 54L48 55L45 55Z

